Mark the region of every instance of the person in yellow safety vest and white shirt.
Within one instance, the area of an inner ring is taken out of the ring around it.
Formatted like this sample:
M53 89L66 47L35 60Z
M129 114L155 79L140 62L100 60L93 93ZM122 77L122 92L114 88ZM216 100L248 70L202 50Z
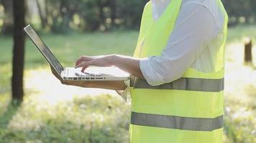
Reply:
M130 90L131 142L221 142L227 13L220 0L151 0L134 57L81 56L76 67L117 66L124 82L63 82ZM57 76L57 74L55 74Z

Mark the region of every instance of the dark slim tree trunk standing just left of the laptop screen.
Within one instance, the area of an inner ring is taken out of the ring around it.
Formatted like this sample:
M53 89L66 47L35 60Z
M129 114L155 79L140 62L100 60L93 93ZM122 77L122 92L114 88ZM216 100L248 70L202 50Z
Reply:
M22 102L23 69L24 69L24 31L25 6L24 0L14 0L14 49L12 59L12 100Z

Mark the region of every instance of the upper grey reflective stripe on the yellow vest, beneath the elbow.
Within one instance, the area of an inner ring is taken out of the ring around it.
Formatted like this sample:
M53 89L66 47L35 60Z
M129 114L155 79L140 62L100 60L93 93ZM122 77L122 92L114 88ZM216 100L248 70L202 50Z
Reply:
M176 89L198 92L221 92L224 90L224 78L222 79L196 79L181 77L174 82L151 86L145 79L137 79L134 89Z

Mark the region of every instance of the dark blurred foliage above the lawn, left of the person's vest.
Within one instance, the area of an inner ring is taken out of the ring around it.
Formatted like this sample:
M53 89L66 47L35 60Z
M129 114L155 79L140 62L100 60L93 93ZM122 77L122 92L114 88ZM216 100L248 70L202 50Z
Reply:
M138 28L147 1L137 0L46 0L50 29L106 31L116 28Z

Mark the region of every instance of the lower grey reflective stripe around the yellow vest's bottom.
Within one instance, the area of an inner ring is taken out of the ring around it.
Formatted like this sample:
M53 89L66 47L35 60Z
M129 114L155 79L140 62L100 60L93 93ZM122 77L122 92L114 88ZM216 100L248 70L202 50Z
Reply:
M131 124L169 129L213 131L223 127L223 115L216 118L195 118L132 112Z

